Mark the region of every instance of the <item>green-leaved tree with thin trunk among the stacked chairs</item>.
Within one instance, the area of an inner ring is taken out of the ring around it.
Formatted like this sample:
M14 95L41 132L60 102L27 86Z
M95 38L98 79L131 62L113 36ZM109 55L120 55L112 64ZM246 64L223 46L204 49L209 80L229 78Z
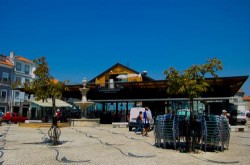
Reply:
M218 78L217 71L222 70L222 63L220 60L213 58L205 64L193 65L183 72L177 71L170 67L164 72L168 82L167 93L181 94L189 98L190 101L190 131L187 137L187 150L194 150L194 144L191 146L189 141L193 133L193 99L200 97L202 93L209 89L209 82L206 80L206 75L211 74L214 78ZM189 144L188 144L189 143Z

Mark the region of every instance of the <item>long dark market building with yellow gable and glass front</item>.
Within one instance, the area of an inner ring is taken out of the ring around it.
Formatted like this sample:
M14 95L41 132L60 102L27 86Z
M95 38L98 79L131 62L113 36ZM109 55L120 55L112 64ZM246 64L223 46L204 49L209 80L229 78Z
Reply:
M207 78L210 88L200 98L194 99L194 111L218 115L222 109L230 111L229 100L239 91L248 76ZM147 72L138 72L117 63L87 83L87 99L96 104L89 108L89 117L100 117L101 123L127 121L129 109L134 106L149 107L153 116L167 109L189 109L189 98L170 95L167 80L154 80ZM66 101L80 100L80 85L69 85L63 93Z

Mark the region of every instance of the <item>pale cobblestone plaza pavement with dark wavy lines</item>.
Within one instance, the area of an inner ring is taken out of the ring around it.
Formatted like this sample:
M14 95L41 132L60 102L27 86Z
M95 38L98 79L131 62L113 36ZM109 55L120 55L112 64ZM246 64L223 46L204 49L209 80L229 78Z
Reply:
M61 128L61 145L52 146L49 128L0 126L0 164L250 164L250 131L231 132L229 150L180 153L154 146L154 135L144 137L128 128Z

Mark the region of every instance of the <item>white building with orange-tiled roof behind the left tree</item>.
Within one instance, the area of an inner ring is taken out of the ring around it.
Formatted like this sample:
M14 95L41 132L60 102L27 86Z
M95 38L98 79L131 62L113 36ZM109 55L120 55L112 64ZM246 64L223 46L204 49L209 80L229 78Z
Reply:
M14 64L13 81L21 83L32 82L35 79L34 71L36 69L33 61L22 56L16 56L10 52L10 61ZM32 97L32 96L31 96ZM28 116L29 95L19 90L12 90L12 112L17 112L22 116Z

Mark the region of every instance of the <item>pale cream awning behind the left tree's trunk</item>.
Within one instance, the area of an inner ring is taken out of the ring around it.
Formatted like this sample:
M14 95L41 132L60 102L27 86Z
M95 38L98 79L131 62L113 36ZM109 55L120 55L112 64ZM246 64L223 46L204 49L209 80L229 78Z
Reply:
M39 100L39 101L36 101L36 100L30 100L31 103L34 103L36 105L39 105L41 107L52 107L52 99L49 98L47 100ZM60 99L56 99L56 107L72 107L72 105L68 104L67 102L65 101L62 101Z

